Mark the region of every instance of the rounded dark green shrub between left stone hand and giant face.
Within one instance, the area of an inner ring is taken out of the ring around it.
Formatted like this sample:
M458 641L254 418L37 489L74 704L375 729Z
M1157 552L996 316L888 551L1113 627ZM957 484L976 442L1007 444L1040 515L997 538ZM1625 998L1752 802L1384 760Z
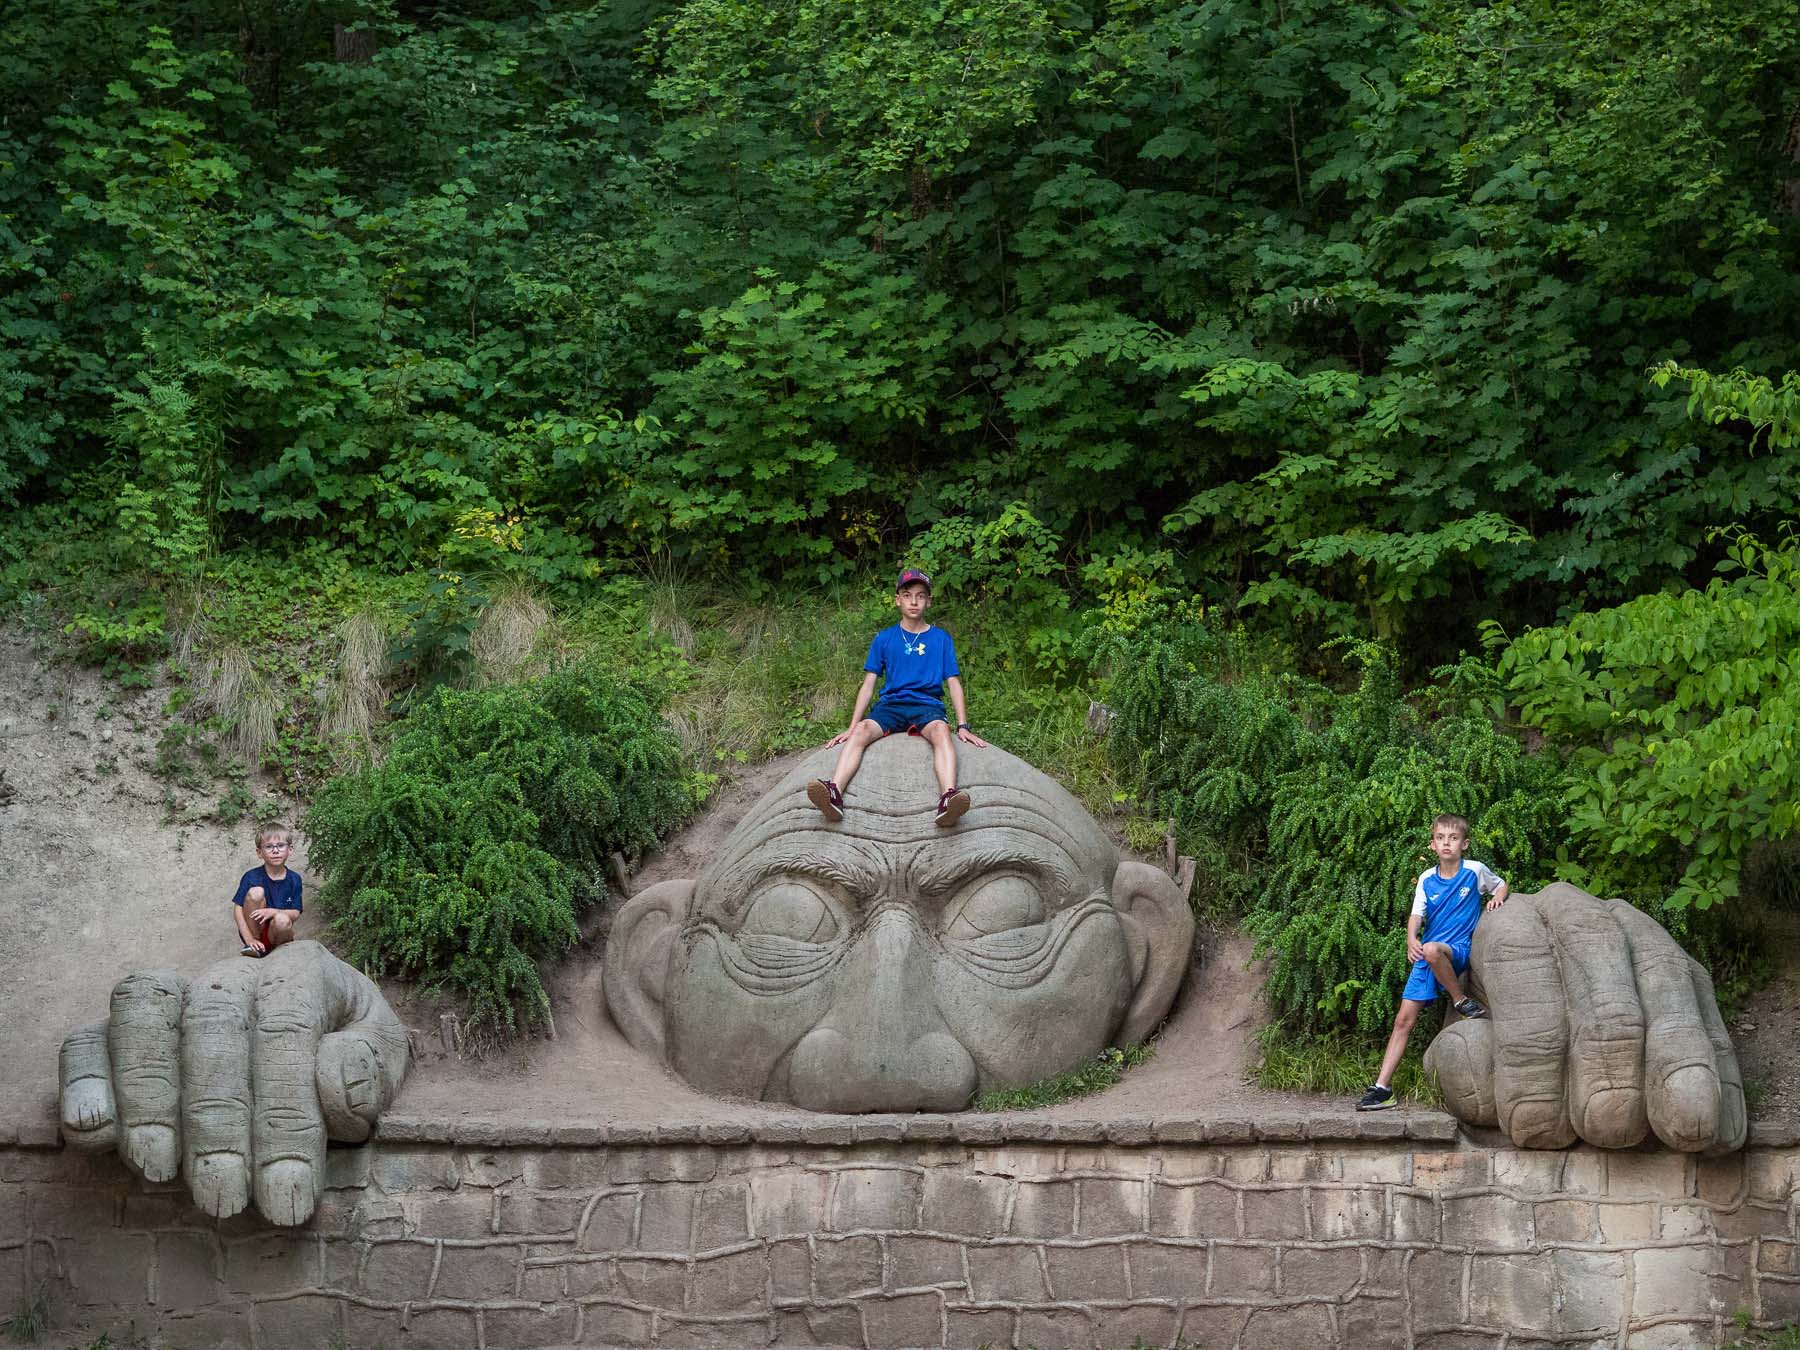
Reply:
M689 805L675 738L635 684L592 666L439 689L387 760L331 779L306 815L344 954L454 990L477 1030L540 1026L538 963L567 950L637 853Z

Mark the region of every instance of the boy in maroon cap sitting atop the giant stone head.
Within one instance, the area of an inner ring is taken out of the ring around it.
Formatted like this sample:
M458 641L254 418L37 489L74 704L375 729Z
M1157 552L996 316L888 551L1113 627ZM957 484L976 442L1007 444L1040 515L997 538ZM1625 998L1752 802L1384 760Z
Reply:
M857 689L857 709L850 715L850 729L841 731L826 745L842 745L837 767L830 778L815 778L806 785L806 799L828 821L844 819L844 788L862 763L862 752L896 731L909 731L931 742L931 763L938 772L938 824L956 824L968 810L968 794L956 787L956 742L986 745L968 729L968 709L963 704L963 680L956 666L956 643L943 628L925 623L931 608L931 578L916 567L900 572L895 585L895 607L900 623L882 628L869 643L866 671ZM882 697L875 707L875 680L882 680ZM956 736L943 711L943 691L950 691L956 706ZM868 716L862 716L868 711Z

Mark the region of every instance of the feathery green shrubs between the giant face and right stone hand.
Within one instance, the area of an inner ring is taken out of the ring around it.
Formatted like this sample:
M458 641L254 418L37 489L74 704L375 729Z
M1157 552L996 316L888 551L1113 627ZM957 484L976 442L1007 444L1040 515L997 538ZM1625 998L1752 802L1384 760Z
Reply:
M1240 641L1177 628L1130 639L1112 684L1121 770L1222 882L1217 900L1246 914L1274 1012L1307 1033L1391 1022L1433 815L1465 815L1471 857L1535 889L1566 790L1555 756L1526 754L1481 713L1420 713L1391 653L1348 653L1361 677L1336 693L1249 664Z

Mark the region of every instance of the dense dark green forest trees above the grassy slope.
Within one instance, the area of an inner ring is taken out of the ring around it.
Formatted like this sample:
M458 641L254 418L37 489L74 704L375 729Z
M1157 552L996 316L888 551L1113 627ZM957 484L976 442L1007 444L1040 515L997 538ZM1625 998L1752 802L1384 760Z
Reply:
M848 576L1024 513L1057 581L1168 549L1337 632L1552 619L1796 504L1643 380L1791 364L1796 38L1778 0L18 0L0 500L160 574L436 563L484 513L538 581Z

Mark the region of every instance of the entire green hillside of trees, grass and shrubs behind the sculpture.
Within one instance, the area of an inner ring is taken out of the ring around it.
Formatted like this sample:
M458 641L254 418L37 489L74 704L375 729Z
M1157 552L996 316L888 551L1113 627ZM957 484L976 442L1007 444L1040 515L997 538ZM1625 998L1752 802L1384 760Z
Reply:
M344 947L497 1028L841 729L902 562L983 733L1258 934L1265 1075L1361 1085L1438 810L1732 997L1796 353L1786 0L0 18L0 605L166 668L171 812L277 769Z

